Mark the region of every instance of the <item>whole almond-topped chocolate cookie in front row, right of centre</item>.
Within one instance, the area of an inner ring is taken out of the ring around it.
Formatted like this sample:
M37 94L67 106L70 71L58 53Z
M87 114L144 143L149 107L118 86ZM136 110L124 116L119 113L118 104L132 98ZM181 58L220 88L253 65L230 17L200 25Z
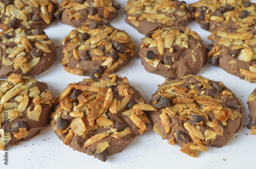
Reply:
M203 76L166 79L151 104L158 108L148 112L154 131L191 157L226 145L242 123L237 97L222 82Z

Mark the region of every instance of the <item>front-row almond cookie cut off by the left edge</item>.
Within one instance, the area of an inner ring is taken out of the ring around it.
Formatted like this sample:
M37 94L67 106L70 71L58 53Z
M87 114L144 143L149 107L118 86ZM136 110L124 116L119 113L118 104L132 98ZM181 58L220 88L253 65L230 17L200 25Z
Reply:
M54 101L47 84L15 73L0 80L0 150L40 133L50 123Z

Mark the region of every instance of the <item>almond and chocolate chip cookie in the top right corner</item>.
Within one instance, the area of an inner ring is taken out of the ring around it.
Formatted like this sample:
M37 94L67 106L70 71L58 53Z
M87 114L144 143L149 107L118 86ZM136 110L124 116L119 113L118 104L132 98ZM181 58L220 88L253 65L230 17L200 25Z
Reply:
M223 26L255 26L256 4L250 1L202 0L190 5L202 29L215 32Z

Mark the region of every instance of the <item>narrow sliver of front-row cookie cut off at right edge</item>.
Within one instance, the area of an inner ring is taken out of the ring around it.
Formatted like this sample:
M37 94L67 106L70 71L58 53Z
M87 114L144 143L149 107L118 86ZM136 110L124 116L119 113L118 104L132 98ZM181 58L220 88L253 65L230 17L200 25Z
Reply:
M251 129L250 134L256 134L256 89L248 97L248 107L250 110L248 129Z

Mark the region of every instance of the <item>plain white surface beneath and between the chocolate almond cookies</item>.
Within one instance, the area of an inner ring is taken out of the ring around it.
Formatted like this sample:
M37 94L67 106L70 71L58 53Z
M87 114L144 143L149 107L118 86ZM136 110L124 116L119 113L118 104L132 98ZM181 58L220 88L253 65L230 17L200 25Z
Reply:
M117 2L121 3L122 7L126 5L126 1L123 0ZM196 1L187 0L186 2L193 3ZM124 22L123 9L119 10L118 14L118 18L113 20L111 24L126 31L139 47L143 35ZM202 30L197 23L191 21L188 27L202 36L205 45L209 43L207 40L209 33ZM55 21L45 32L55 46L60 46L62 39L72 29L71 26ZM57 62L49 70L36 76L39 81L48 83L49 89L53 91L55 97L69 83L81 81L83 78L64 71L59 61L58 55ZM159 75L147 73L139 58L133 58L129 65L117 73L129 78L131 85L140 91L147 103L151 99L151 94L157 90L157 85L164 81L164 78ZM249 110L246 102L249 94L255 89L255 83L241 80L219 67L209 64L206 64L199 74L211 80L222 81L227 88L236 94L245 107L242 127L235 134L237 138L231 139L227 146L222 148L209 147L208 152L199 152L197 158L192 158L181 153L178 145L170 146L167 144L167 140L162 140L153 131L152 126L148 125L148 129L143 135L137 136L121 153L108 157L106 162L101 162L93 156L73 151L68 146L63 145L52 131L51 126L48 126L41 130L41 134L28 142L10 147L8 166L4 165L4 151L1 151L0 168L255 168L256 144L254 144L254 140L256 135L246 135L249 130L243 127L248 124Z

